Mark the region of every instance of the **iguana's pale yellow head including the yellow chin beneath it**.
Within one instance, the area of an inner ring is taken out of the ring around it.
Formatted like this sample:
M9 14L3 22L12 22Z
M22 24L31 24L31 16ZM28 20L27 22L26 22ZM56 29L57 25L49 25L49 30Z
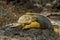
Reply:
M24 26L26 24L30 24L32 21L36 21L36 18L30 14L25 14L19 17L16 26ZM14 27L14 26L13 26Z

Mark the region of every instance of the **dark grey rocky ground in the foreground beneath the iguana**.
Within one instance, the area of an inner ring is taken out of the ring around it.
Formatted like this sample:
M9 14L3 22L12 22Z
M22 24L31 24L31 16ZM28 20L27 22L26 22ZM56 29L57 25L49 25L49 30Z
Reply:
M55 34L52 30L48 29L26 29L22 30L21 27L7 28L3 27L0 29L0 35L7 37L30 37L31 40L60 40L60 36ZM13 39L13 38L12 38Z

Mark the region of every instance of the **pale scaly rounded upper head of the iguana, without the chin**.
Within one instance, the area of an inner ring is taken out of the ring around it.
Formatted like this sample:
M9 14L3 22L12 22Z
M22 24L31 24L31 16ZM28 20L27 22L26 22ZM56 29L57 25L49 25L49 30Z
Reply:
M29 23L32 21L35 21L36 18L34 16L31 15L23 15L18 19L18 23Z

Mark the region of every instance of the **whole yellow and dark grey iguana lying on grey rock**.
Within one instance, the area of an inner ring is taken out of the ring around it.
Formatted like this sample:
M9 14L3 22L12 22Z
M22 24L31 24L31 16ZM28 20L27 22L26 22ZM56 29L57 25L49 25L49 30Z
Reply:
M18 23L15 26L20 26L22 29L30 29L30 28L38 28L38 29L49 29L53 30L56 34L59 34L57 28L52 27L52 24L48 20L48 18L37 15L37 14L26 14L19 18Z

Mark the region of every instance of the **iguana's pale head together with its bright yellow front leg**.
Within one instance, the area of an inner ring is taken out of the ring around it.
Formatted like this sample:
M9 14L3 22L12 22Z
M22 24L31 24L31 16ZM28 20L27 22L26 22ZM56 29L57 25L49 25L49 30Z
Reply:
M36 18L31 15L23 15L18 19L18 23L15 26L12 27L17 27L17 26L22 26L22 29L27 29L27 28L40 28L40 23L36 21Z

